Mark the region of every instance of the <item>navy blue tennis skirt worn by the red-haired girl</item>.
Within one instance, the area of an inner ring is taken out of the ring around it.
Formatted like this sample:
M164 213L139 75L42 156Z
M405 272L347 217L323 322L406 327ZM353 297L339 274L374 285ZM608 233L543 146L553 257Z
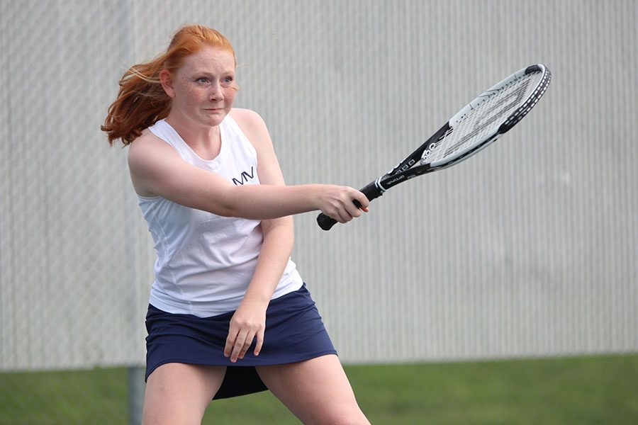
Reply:
M253 341L244 358L230 363L224 357L224 346L234 313L202 318L167 313L149 305L146 378L164 363L227 366L222 385L213 397L222 399L267 390L254 366L293 363L337 353L305 283L299 290L270 301L259 356L253 354Z

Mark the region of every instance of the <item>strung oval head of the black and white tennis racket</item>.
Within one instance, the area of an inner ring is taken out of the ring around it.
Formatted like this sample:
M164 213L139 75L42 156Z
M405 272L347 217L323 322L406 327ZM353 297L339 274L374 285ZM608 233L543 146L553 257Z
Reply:
M491 86L449 120L422 152L420 164L442 169L484 149L530 112L551 79L547 67L535 64Z

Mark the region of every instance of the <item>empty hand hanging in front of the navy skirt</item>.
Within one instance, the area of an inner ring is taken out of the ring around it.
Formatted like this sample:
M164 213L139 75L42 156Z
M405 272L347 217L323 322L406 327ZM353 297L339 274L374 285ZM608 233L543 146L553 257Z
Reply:
M264 344L267 307L268 304L246 299L237 307L230 319L230 329L228 329L224 347L224 356L230 357L232 363L235 363L237 358L244 358L255 337L257 337L257 344L254 346L253 353L259 356L259 351Z

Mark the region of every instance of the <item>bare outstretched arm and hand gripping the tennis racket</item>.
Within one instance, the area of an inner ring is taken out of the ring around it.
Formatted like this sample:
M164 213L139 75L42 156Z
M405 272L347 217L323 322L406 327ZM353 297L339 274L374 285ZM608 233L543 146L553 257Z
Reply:
M130 145L128 164L138 193L227 217L267 220L321 210L347 222L361 215L353 200L368 205L363 193L346 186L235 186L183 161L172 147L148 131Z

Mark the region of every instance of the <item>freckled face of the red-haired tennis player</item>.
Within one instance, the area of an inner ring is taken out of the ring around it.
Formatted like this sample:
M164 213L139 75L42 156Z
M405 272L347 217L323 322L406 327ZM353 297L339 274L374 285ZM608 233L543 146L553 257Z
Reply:
M196 125L219 125L230 112L237 94L235 57L219 47L203 49L186 57L172 81L171 114Z

